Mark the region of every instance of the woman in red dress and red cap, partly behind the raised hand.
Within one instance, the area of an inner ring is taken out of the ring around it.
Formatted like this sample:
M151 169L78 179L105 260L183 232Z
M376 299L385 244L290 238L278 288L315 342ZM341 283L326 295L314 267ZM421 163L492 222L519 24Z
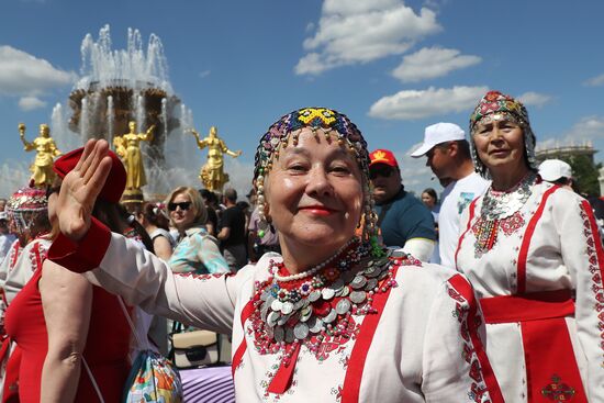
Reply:
M48 216L57 231L60 181L81 155L82 148L55 161L58 179L47 193ZM125 170L113 153L110 157L110 179L89 213L123 233L127 224L118 203ZM119 402L130 370L132 331L126 321L115 295L45 260L7 311L7 333L22 350L20 402L97 402L99 394L105 402Z

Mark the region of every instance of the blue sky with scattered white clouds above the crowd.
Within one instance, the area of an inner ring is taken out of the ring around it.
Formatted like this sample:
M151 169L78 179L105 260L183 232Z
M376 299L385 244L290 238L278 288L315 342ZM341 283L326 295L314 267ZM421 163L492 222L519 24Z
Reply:
M525 101L538 146L591 141L603 149L602 15L600 0L4 0L0 194L34 157L22 149L18 123L32 139L57 103L68 109L82 38L97 38L105 24L114 49L126 46L128 27L145 44L152 33L160 37L171 87L198 131L215 125L243 150L227 161L241 191L260 134L307 105L346 113L371 148L395 152L404 183L421 191L440 190L424 160L407 156L424 127L466 128L486 89ZM205 152L190 142L186 155L168 158L188 172L186 184L198 186Z

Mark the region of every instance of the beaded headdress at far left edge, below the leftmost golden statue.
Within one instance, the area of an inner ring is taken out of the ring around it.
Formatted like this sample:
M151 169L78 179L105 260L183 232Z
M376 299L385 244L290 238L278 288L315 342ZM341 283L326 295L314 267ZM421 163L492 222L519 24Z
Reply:
M37 215L48 214L46 191L30 187L19 189L9 198L7 213L19 232L29 230Z

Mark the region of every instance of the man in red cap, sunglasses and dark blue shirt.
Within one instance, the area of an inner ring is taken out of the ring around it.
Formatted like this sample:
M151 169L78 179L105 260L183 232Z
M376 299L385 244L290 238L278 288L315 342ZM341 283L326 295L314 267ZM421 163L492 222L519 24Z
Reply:
M369 177L383 243L427 261L436 240L430 211L405 191L392 152L376 149L369 157Z

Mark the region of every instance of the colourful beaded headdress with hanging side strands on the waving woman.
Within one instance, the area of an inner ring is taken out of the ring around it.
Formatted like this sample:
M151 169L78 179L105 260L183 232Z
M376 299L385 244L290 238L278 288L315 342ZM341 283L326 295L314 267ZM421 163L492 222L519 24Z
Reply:
M286 148L291 137L293 146L298 145L298 137L304 127L310 127L315 136L323 134L325 138L331 139L332 134L337 135L337 142L340 146L347 147L355 156L361 175L363 191L363 222L362 240L371 244L372 255L381 256L383 254L377 237L377 214L373 210L373 198L369 190L369 154L367 152L367 142L362 137L357 126L350 120L334 110L326 108L302 108L275 122L267 133L260 138L260 144L256 149L256 166L254 169L254 181L257 192L258 215L258 235L262 236L268 228L268 220L265 215L265 179L272 169L272 161L279 159L279 152ZM359 223L359 225L361 225Z

